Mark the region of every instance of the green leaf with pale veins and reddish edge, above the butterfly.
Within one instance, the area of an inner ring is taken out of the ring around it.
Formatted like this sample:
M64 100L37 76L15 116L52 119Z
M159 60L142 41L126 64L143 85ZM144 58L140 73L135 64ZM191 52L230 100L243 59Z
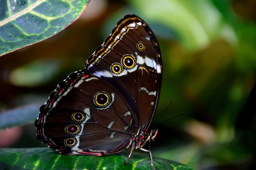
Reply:
M57 34L81 16L89 1L0 1L0 56Z

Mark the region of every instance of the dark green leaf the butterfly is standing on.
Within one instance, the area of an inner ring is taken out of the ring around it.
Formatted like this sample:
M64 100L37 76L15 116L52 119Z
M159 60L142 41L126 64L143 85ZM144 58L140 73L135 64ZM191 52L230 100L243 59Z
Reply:
M0 148L0 167L3 169L152 169L146 153L129 152L107 157L59 155L49 148ZM154 157L156 169L191 169L171 160Z

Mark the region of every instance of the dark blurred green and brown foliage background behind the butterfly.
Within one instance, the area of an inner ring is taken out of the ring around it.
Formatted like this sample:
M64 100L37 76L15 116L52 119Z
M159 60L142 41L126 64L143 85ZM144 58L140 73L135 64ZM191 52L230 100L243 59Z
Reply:
M43 104L134 13L156 34L163 57L154 157L195 169L253 169L255 9L253 0L92 0L56 36L0 57L0 112ZM40 146L33 124L0 131L0 147Z

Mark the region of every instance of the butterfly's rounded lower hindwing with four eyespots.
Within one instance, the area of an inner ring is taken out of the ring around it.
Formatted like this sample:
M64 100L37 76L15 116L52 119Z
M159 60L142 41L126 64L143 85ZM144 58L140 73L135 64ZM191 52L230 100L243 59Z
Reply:
M131 143L131 134L138 131L133 115L111 85L78 71L40 108L38 139L65 154L107 155Z

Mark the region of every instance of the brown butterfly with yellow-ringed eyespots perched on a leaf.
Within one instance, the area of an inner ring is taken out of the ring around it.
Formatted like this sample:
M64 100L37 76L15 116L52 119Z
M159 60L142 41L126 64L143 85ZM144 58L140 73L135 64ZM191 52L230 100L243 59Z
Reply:
M140 17L125 15L88 58L40 107L37 138L66 155L106 156L143 148L156 138L148 131L162 81L156 36Z

